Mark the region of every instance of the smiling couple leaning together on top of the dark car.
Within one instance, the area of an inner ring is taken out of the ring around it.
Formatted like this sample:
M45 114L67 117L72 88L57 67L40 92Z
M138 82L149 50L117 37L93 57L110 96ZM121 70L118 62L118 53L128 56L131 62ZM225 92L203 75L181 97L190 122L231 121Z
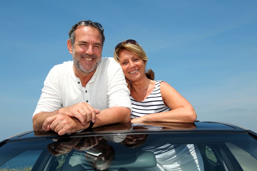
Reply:
M69 31L73 61L54 66L33 114L33 129L59 135L122 122L193 123L192 105L164 81L146 71L148 57L135 40L102 57L104 27L79 21ZM125 77L124 77L125 75Z

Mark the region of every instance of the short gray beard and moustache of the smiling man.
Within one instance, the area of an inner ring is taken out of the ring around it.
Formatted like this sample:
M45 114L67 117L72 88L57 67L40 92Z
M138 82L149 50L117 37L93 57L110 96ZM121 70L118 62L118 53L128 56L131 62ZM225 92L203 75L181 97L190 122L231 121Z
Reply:
M96 68L98 67L100 61L98 61L98 62L96 63L95 67L94 67L91 71L86 71L86 70L84 70L84 69L82 68L82 66L81 66L81 64L80 64L80 60L81 60L82 57L88 57L88 58L94 57L95 59L98 58L95 54L93 54L93 55L83 54L83 55L80 56L80 58L75 59L75 58L76 58L76 53L75 53L75 50L72 49L72 59L73 59L73 63L74 63L74 65L75 65L81 72L88 74L88 73L91 73L91 72L95 71ZM101 56L100 56L99 58L101 58Z

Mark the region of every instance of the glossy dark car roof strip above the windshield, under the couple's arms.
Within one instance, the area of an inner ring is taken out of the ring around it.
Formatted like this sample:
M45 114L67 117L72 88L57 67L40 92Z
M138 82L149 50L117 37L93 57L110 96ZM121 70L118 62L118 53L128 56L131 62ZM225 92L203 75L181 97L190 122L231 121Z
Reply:
M131 127L132 125L132 127ZM28 131L17 134L0 142L0 146L6 142L35 140L35 139L54 139L92 135L119 135L119 134L162 134L162 133L248 133L257 136L252 130L238 125L223 122L195 122L195 123L163 123L163 122L145 122L140 124L120 123L101 126L93 129L85 129L77 133L65 134L59 136L57 133L48 131L34 132ZM131 128L130 128L131 127ZM137 129L132 129L132 128ZM161 129L162 128L162 129ZM163 129L165 128L165 129Z

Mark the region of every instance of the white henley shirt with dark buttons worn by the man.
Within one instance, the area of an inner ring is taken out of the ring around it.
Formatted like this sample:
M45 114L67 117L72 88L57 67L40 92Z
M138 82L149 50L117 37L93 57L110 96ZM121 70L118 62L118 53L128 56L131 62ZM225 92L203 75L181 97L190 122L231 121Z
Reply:
M132 110L129 95L122 68L114 58L102 57L86 87L82 87L80 79L75 76L73 61L68 61L50 70L33 116L79 102L87 102L99 110L114 106Z

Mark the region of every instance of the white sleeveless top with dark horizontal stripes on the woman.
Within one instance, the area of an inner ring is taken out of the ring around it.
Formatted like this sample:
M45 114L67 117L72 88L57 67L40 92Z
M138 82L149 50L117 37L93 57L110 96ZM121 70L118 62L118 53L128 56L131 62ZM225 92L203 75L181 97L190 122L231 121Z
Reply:
M142 102L138 102L130 95L132 103L132 112L130 118L137 118L147 114L169 111L170 108L165 106L161 97L160 83L157 81L152 93Z

